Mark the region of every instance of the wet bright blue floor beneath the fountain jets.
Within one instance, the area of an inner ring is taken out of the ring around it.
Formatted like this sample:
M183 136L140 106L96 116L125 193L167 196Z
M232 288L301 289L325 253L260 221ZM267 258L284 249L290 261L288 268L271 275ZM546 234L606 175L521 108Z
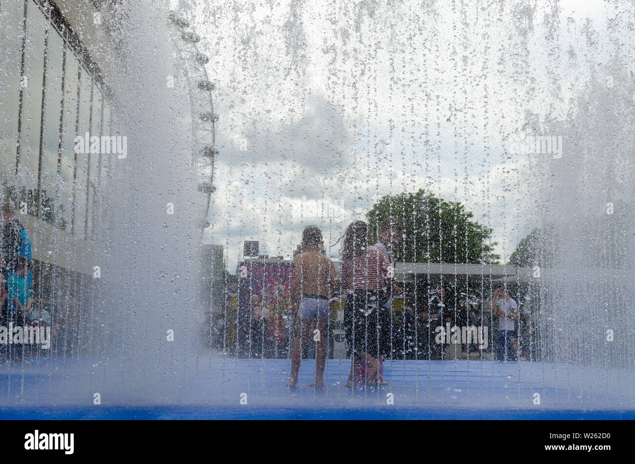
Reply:
M620 371L387 361L389 385L351 390L348 360L328 360L324 389L307 386L314 360L302 361L293 389L284 385L289 367L287 359L197 358L159 375L126 360L40 359L0 368L0 418L635 419L632 378Z

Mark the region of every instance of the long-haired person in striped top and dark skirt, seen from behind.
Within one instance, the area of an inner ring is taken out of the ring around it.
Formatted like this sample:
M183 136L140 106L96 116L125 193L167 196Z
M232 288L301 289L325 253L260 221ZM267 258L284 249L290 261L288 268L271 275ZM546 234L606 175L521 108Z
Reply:
M381 380L377 370L380 357L390 349L390 340L380 311L385 311L393 278L394 270L384 252L370 245L368 224L352 222L342 248L342 285L347 292L344 325L352 358L347 387L354 388L359 382L358 366L364 383Z

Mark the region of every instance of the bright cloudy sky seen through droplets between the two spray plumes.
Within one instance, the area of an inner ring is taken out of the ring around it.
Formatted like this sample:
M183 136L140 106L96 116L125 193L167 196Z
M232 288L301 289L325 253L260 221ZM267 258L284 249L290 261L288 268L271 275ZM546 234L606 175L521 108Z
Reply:
M582 24L604 27L599 2L197 6L221 115L206 239L227 245L230 268L248 238L290 255L302 197L342 205L341 221L313 221L334 243L378 198L418 188L464 203L509 257L536 224L546 161L507 154L507 139L564 119L609 40L589 46Z

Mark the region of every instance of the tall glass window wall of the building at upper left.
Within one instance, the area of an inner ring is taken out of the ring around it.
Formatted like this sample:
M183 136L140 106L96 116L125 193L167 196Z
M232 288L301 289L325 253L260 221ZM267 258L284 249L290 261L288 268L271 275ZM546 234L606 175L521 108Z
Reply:
M55 3L3 0L0 24L1 196L91 240L112 155L75 141L114 134L112 93Z

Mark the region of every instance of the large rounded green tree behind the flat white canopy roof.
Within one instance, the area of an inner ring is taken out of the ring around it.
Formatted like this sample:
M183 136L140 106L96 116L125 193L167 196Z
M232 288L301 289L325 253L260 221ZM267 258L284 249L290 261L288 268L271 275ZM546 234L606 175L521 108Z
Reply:
M394 259L400 262L497 264L492 229L472 221L460 202L447 202L420 189L417 193L386 195L366 214L377 239L377 226L387 217L402 224L403 238Z

